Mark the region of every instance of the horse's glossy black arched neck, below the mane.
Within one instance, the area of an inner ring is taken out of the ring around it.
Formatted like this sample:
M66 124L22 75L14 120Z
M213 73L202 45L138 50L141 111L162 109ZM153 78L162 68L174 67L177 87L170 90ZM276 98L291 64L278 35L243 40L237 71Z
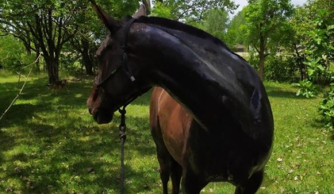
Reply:
M269 100L256 72L244 60L212 39L138 26L130 36L131 46L140 58L139 66L149 72L149 82L167 90L205 128L248 134L271 147Z

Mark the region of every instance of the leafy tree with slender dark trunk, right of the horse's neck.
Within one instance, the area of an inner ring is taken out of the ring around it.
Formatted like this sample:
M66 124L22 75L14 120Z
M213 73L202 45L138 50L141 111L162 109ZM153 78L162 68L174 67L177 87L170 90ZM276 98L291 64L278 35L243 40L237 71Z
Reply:
M264 79L264 62L270 45L279 45L291 31L288 20L293 14L290 0L248 0L245 29L248 44L259 55L259 76ZM271 49L276 52L275 49Z

